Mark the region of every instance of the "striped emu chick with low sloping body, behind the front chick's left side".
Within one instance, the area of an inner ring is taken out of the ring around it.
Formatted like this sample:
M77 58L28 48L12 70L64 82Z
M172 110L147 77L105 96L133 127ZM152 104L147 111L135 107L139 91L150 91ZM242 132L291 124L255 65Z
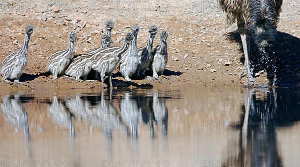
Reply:
M101 38L101 43L104 44L105 42L110 42L110 40L106 35L103 35ZM76 81L79 81L80 77L86 80L86 77L91 70L91 60L94 57L100 56L101 52L114 48L117 47L96 48L88 53L74 56L65 70L65 75L75 78Z

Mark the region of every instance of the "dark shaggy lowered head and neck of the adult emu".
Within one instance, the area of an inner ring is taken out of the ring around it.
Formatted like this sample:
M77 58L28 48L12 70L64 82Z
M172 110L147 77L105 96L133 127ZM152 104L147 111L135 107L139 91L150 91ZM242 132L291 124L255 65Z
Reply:
M249 4L249 19L246 25L261 51L270 49L275 41L278 20L275 3L275 0L251 0Z

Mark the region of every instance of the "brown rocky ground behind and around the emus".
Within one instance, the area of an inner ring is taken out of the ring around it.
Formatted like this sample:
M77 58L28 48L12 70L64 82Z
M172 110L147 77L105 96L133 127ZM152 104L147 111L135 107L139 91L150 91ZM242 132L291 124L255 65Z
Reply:
M300 0L284 0L278 23L274 54L279 58L279 85L297 85L300 77ZM242 68L240 39L236 25L228 25L214 0L62 0L62 1L0 1L0 62L23 40L26 24L34 26L29 42L28 63L22 80L35 87L97 88L99 82L77 83L59 78L52 80L45 65L51 53L67 46L67 33L77 32L74 55L99 47L104 22L112 20L112 45L120 45L123 29L131 24L144 27L139 31L137 45L146 44L147 26L156 24L168 32L168 64L163 86L182 84L234 84ZM281 33L282 32L282 33ZM284 32L284 33L283 33ZM158 35L157 35L158 36ZM156 36L154 45L158 44ZM116 73L116 72L115 72ZM257 84L268 84L267 74L255 72ZM291 79L292 78L292 79ZM117 73L114 84L127 86ZM281 80L281 81L280 81ZM284 80L284 82L282 82ZM288 83L285 82L288 80ZM133 80L133 86L161 86L153 81ZM1 83L2 85L6 85Z

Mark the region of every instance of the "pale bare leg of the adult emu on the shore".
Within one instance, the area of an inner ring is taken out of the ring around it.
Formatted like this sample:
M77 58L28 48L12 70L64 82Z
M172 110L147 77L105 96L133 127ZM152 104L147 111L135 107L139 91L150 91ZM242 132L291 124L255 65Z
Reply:
M245 29L244 26L245 22L243 18L237 19L237 29L241 38L241 43L242 43L242 48L245 56L245 62L244 62L244 67L242 71L239 74L239 78L241 79L243 76L247 76L247 80L245 82L245 85L250 86L254 85L255 83L255 78L252 76L252 72L250 69L250 60L249 60L249 55L248 55L248 46L247 46L247 30Z

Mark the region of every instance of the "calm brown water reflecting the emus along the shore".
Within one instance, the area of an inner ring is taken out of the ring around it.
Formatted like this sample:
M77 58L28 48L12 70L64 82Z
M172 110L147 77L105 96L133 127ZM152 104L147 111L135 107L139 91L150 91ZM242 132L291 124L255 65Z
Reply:
M1 167L297 167L300 90L0 93ZM29 164L29 165L28 165Z

